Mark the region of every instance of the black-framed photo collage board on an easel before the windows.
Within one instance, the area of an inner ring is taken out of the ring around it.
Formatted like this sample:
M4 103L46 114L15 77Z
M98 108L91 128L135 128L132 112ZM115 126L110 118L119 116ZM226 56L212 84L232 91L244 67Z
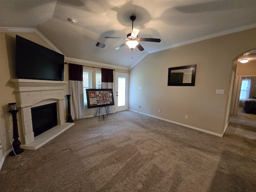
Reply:
M114 105L113 89L86 89L86 96L88 108Z

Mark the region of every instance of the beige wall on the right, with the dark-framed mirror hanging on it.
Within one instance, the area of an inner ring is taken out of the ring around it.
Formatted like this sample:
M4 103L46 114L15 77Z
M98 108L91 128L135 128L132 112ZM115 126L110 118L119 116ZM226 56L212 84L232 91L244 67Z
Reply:
M255 39L256 28L148 54L130 70L129 109L222 135L232 60L256 48ZM195 86L167 86L168 68L192 64L197 64Z

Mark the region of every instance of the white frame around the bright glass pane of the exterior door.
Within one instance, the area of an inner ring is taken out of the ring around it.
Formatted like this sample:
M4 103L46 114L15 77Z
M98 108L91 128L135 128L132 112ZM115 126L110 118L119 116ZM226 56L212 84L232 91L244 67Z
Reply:
M116 77L115 77L115 80L116 80L116 85L115 85L115 111L118 112L118 111L123 111L123 110L128 110L129 108L129 74L128 73L120 73L120 72L116 72ZM126 80L126 101L125 101L125 106L126 108L122 108L122 110L118 110L118 96L116 94L116 92L118 91L118 76L127 76L127 80Z

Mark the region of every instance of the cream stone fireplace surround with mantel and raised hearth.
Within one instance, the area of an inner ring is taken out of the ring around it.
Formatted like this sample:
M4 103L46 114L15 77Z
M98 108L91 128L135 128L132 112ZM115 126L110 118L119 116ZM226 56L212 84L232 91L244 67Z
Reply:
M18 129L21 148L36 150L74 125L64 121L67 82L30 79L10 79L9 82L14 85L16 103L20 109ZM57 103L58 126L34 137L31 108L54 102Z

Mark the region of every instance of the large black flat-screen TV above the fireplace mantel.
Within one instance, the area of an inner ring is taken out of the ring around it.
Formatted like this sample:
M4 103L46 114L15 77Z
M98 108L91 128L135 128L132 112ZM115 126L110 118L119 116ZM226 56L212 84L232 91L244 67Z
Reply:
M17 78L64 80L64 55L16 35Z

